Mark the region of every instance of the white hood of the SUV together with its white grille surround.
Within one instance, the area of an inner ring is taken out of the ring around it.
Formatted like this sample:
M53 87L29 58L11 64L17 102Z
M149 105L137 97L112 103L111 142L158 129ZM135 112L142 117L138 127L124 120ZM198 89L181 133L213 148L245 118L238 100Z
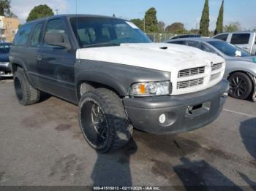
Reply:
M170 72L170 82L173 84L172 95L205 90L222 80L225 71L225 60L218 55L178 44L121 44L116 47L83 48L77 51L77 58ZM212 71L211 65L214 63L222 63L222 67ZM179 71L200 67L205 69L203 74L178 77ZM218 76L212 79L214 74ZM180 84L189 87L180 88Z

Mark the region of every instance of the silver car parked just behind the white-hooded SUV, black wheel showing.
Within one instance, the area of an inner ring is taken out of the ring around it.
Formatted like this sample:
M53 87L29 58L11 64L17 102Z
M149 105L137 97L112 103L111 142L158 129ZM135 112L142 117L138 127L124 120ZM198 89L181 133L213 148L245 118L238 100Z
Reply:
M256 57L233 44L219 39L185 38L167 43L197 47L200 50L222 56L226 60L224 77L230 82L230 96L256 101Z

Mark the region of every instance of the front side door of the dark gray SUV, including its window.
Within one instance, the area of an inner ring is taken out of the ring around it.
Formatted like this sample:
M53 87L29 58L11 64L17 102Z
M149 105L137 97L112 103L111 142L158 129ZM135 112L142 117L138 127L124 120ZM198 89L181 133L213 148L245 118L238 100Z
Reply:
M61 18L48 20L47 33L66 34L67 26ZM43 36L45 36L45 34ZM37 71L41 90L75 101L75 50L46 44L44 39L37 55Z

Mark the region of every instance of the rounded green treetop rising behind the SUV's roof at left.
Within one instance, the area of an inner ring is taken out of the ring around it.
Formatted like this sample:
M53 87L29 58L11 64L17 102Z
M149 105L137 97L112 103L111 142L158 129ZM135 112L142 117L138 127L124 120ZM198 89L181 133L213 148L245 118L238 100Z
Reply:
M29 17L26 19L27 22L31 20L36 20L42 17L53 16L53 10L48 7L46 4L40 4L39 6L34 7L31 12L29 12Z

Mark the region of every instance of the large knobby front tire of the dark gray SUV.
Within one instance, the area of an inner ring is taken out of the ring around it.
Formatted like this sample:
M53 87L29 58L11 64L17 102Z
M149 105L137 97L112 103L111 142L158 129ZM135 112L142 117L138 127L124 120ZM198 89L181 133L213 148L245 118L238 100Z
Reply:
M85 113L86 116L88 116L87 114L89 113L87 112L88 110L85 110L88 103L97 104L105 114L106 126L108 128L106 130L107 138L103 145L94 143L95 138L89 137L89 133L86 133L88 128L91 128L91 125L85 125L89 123L87 123L88 119L85 119L88 117L84 117ZM104 153L118 150L126 145L132 137L133 127L125 114L121 98L111 90L99 88L83 94L78 106L78 119L83 136L89 145L96 149L97 152Z

